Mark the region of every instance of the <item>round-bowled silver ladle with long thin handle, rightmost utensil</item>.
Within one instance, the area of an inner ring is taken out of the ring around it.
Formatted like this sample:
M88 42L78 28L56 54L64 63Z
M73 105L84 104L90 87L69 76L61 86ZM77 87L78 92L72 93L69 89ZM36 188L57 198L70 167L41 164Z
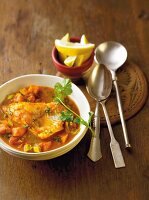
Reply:
M122 103L120 99L119 89L117 85L116 70L122 66L126 61L127 51L123 45L117 42L108 41L100 44L95 50L95 61L100 64L104 64L111 72L113 84L116 90L116 98L118 103L118 109L123 129L123 135L125 140L125 147L131 147L128 139L126 123L124 120L124 114L122 109Z

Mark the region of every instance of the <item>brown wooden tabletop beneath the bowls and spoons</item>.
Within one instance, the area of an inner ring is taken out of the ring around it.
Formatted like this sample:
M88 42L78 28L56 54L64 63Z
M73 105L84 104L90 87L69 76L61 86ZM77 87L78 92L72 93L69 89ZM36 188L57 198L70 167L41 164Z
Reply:
M52 47L67 32L85 33L96 45L123 43L128 59L149 79L149 1L1 0L0 83L23 74L56 74ZM0 150L0 199L149 199L149 100L126 124L131 153L125 150L121 125L113 126L126 163L122 169L114 168L107 127L101 128L103 158L96 163L87 157L89 131L73 150L48 161L22 160Z

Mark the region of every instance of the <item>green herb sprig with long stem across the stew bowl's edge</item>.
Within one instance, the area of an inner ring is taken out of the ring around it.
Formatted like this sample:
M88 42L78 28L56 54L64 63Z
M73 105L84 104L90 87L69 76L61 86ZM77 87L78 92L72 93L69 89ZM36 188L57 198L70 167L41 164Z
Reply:
M72 82L70 79L64 79L63 85L61 83L56 83L54 86L54 93L55 93L55 100L61 103L67 110L68 112L62 112L61 118L62 120L68 120L71 121L73 119L74 114L76 117L74 119L74 122L78 124L83 124L86 126L93 134L95 135L94 130L91 127L91 120L93 116L93 112L89 112L89 119L88 121L85 121L80 115L78 115L76 112L71 110L65 103L64 99L72 93Z

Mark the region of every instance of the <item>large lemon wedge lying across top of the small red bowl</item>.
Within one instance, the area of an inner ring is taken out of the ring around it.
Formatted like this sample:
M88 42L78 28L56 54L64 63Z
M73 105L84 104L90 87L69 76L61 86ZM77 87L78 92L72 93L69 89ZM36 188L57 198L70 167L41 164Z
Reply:
M86 53L91 53L93 48L95 47L95 45L92 43L80 44L66 42L58 39L55 40L55 46L60 53L69 56L78 56Z

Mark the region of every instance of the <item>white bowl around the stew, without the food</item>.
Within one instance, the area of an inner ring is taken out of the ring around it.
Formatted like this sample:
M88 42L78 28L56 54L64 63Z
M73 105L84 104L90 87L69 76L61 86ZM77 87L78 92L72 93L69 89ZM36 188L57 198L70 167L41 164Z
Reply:
M2 102L8 94L16 92L20 88L23 88L29 85L54 87L54 85L57 82L62 82L62 81L63 81L63 78L60 78L57 76L40 75L40 74L29 74L29 75L24 75L24 76L14 78L0 86L0 102ZM88 121L88 118L89 118L88 113L90 111L90 106L86 97L75 84L72 84L72 90L73 92L70 95L70 97L74 100L74 102L78 106L79 111L80 111L80 116L85 121ZM70 151L71 149L73 149L83 138L86 131L87 131L87 128L84 125L80 125L79 133L76 134L76 136L69 143L57 149L46 151L46 152L26 153L26 152L18 151L12 148L11 146L9 146L8 144L6 144L1 138L0 138L0 147L7 153L13 156L23 158L23 159L47 160L47 159L58 157Z

